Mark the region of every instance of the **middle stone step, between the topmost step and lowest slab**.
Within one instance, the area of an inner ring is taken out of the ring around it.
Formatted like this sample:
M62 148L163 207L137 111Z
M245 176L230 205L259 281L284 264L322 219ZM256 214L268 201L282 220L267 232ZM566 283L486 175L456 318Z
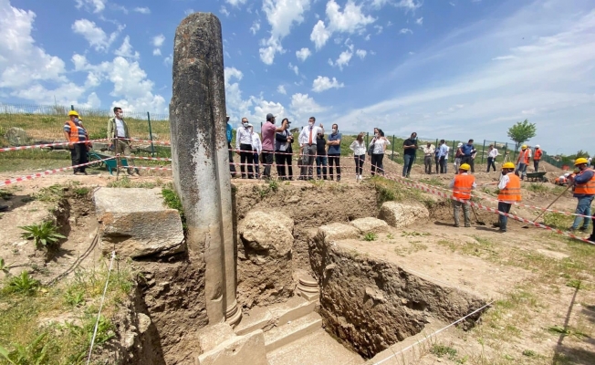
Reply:
M322 318L316 312L288 321L285 325L265 332L266 352L278 349L322 328Z

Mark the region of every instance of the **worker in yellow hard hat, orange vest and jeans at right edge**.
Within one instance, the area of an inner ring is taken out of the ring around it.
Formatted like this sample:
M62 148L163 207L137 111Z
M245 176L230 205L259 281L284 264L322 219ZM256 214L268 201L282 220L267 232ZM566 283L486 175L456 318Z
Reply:
M574 165L579 168L579 172L576 175L569 176L569 183L574 186L573 196L579 200L575 211L576 214L590 215L590 204L595 196L595 171L587 167L588 163L589 161L584 157L577 159ZM582 225L579 227L581 221ZM589 228L589 222L589 218L577 215L570 227L570 232L576 231L577 228L586 231Z

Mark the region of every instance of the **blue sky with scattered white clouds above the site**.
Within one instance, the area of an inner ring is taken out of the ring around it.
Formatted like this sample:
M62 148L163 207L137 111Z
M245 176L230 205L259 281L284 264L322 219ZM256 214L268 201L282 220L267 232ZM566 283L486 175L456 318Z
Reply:
M175 28L219 17L227 110L593 151L592 0L0 0L0 100L168 113Z

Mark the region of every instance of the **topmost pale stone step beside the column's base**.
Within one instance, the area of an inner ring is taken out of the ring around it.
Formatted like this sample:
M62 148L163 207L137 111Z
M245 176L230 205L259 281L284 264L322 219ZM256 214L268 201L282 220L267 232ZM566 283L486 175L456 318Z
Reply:
M291 297L285 303L252 308L235 327L235 334L245 335L256 329L262 329L266 332L271 328L283 326L288 321L312 313L316 304L314 301L308 301L303 297L296 296Z

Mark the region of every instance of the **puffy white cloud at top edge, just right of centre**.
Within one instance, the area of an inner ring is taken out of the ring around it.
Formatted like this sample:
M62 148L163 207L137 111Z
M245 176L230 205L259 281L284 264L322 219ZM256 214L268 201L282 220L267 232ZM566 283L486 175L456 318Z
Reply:
M361 5L355 5L352 0L348 0L342 12L335 0L329 0L326 13L329 25L326 26L322 20L318 20L310 34L310 40L314 42L316 49L323 47L335 32L361 33L365 31L366 26L376 21L372 16L365 16L361 11Z

